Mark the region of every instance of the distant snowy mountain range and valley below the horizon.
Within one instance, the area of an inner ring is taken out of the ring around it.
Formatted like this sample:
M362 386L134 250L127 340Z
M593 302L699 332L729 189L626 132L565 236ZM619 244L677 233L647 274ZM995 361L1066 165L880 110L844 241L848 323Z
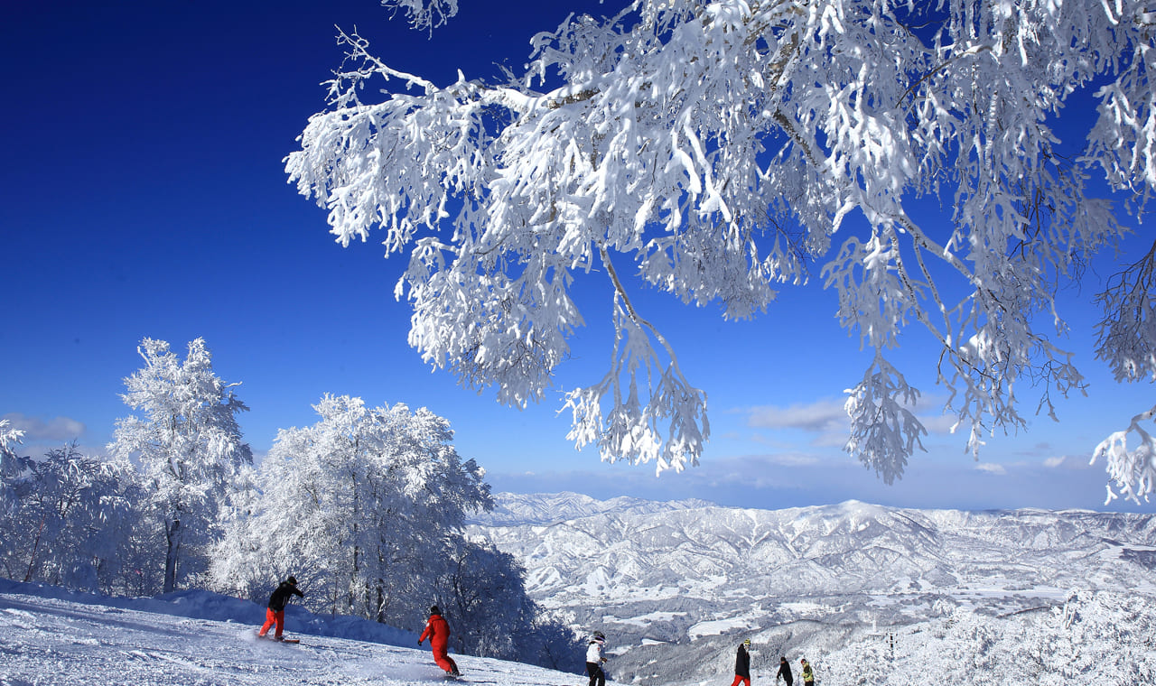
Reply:
M470 532L525 565L541 605L606 632L620 681L716 678L740 636L758 635L756 665L770 666L780 651L959 605L1007 614L1074 589L1156 595L1154 515L857 501L762 510L576 493L496 501Z

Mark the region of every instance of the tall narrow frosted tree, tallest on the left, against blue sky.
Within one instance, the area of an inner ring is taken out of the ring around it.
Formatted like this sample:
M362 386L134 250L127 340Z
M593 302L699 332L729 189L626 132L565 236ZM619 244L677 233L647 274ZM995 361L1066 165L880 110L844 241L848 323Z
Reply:
M249 408L213 371L203 338L181 361L164 341L144 338L144 366L125 379L125 404L139 415L117 422L109 452L139 460L148 505L164 535L164 592L206 566L206 546L252 464L237 413Z

